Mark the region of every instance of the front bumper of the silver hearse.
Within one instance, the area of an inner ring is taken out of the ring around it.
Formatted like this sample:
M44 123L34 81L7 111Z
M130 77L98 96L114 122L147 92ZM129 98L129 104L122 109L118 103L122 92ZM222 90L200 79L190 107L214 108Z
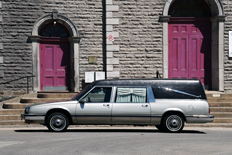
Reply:
M29 115L29 114L21 114L21 119L25 120L25 123L39 123L45 124L45 116L44 115Z

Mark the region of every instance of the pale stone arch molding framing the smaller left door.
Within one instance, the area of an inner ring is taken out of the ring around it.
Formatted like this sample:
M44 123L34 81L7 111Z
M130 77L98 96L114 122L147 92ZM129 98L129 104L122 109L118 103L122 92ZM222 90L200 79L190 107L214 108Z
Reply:
M33 91L40 91L39 43L41 36L39 36L39 32L44 25L52 22L62 24L70 34L70 88L71 91L77 92L79 91L79 43L81 38L74 23L56 10L39 18L33 26L32 35L28 37L29 43L32 44L32 74L35 76L33 79Z

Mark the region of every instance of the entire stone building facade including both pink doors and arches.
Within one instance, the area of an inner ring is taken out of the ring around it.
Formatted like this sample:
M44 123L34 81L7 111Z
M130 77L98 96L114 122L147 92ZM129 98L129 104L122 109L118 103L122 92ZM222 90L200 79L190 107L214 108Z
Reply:
M231 92L231 8L230 0L2 0L0 91L26 91L24 77L31 75L32 91L79 91L86 73L111 79L155 78L159 72L162 78L199 77L207 89ZM198 33L184 35L187 27ZM196 38L201 62L192 51ZM179 48L186 48L182 57L175 53ZM198 75L190 73L195 59L203 66ZM176 72L175 63L187 71ZM54 65L58 69L48 73Z

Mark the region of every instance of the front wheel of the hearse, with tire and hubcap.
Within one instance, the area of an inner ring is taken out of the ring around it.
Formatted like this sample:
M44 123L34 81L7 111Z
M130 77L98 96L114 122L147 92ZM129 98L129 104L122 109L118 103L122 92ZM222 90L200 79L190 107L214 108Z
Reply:
M68 128L69 120L63 113L52 113L48 116L46 126L50 131L62 132Z

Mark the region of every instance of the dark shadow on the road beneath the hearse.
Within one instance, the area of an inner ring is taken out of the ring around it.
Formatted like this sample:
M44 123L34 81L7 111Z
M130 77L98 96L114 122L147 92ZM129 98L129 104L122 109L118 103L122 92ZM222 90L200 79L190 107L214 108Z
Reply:
M19 129L14 130L15 132L50 132L50 133L57 133L52 132L46 129ZM65 131L68 132L136 132L136 133L165 133L156 129L68 129ZM64 133L64 132L63 132ZM202 131L197 130L183 130L181 133L174 133L174 134L207 134Z

